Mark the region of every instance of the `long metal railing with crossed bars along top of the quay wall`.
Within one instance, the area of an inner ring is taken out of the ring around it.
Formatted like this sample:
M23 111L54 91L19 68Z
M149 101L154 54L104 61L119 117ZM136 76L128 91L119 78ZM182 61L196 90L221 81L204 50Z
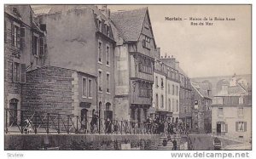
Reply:
M153 133L146 122L106 120L47 111L4 109L5 133Z

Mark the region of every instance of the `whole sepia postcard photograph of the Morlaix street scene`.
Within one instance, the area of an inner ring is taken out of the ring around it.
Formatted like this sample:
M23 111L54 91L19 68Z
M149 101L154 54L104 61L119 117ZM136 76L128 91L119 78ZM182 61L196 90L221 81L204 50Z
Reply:
M252 150L252 4L3 8L4 150Z

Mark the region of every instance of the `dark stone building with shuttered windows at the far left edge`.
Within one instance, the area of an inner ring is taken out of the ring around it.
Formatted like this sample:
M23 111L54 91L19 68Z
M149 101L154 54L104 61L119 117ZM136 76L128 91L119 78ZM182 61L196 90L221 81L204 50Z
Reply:
M32 19L30 5L4 5L4 107L20 110L26 72L44 65L45 31ZM20 111L12 112L20 122ZM9 116L6 116L9 121Z

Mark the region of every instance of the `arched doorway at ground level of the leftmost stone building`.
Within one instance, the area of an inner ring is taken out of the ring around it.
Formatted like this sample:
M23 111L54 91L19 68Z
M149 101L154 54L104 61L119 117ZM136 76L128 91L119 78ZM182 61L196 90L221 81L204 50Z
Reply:
M9 125L17 125L18 122L18 99L9 100Z

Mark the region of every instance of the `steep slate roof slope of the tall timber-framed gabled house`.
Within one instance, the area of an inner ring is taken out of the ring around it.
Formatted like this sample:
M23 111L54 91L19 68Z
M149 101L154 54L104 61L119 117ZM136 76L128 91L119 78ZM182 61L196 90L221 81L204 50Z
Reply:
M147 8L119 11L110 14L110 19L126 42L136 42L141 34Z

